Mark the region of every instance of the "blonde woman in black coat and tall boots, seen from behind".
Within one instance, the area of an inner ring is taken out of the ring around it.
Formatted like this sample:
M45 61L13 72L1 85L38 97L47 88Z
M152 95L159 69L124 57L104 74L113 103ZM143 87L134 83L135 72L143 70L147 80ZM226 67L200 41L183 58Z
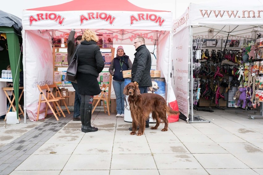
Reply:
M98 128L92 127L90 122L93 96L101 92L97 77L104 68L102 54L96 42L98 37L95 32L87 29L77 48L77 86L81 95L81 131L84 133L98 131Z

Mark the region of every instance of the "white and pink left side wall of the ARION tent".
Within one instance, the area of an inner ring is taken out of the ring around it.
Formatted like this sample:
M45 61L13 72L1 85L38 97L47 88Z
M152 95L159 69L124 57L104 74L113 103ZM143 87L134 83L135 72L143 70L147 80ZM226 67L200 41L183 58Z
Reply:
M26 67L24 84L26 84L27 115L31 121L36 121L40 95L37 85L53 84L52 40L50 35L41 34L38 30L27 30L25 38L23 41L26 54L24 54L23 65ZM45 103L40 105L40 112L42 111L45 111ZM40 113L39 120L44 119L44 115L45 113Z

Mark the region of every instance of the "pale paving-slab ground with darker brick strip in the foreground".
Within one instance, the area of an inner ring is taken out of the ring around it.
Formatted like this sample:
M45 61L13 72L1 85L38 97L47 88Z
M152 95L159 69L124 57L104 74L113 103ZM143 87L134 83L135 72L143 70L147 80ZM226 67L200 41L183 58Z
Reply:
M253 111L195 114L211 123L179 120L167 132L161 124L143 136L131 136L131 123L103 110L92 115L94 133L81 132L72 114L59 121L22 119L1 128L0 174L263 175L263 118L248 119Z

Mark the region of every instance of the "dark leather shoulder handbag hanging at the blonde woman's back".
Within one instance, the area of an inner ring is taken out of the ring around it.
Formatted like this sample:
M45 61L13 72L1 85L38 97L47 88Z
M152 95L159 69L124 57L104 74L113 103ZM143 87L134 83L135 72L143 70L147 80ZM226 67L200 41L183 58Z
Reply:
M78 58L77 58L77 49L78 49L78 46L77 45L77 48L76 48L76 51L74 53L74 56L69 64L69 67L68 67L68 70L67 70L67 79L70 81L70 82L74 82L76 81L76 78L77 78L77 64L78 64Z

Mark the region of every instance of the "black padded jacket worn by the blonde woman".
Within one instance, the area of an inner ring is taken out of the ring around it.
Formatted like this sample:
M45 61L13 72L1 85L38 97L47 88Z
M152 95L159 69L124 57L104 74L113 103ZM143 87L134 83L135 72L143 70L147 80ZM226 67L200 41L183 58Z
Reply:
M104 68L104 61L99 46L94 41L82 41L77 50L77 72L98 77Z

